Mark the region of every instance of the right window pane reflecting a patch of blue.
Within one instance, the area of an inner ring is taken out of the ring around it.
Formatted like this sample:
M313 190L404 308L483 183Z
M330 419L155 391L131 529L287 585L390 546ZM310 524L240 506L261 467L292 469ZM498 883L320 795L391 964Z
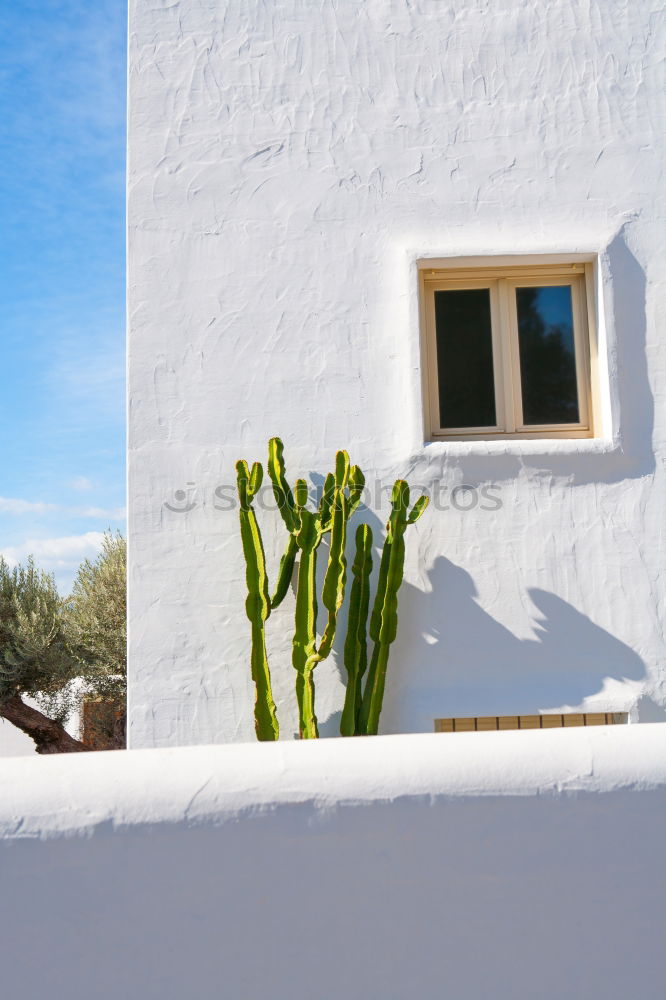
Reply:
M570 285L517 288L525 424L579 422Z

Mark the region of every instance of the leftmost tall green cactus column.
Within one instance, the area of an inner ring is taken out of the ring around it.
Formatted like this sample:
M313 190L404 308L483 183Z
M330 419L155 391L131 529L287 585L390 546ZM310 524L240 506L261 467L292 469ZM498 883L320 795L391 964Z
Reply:
M263 468L259 462L255 462L250 472L247 462L240 461L236 463L236 473L240 501L241 542L245 555L245 578L247 581L245 612L252 626L250 665L256 691L254 727L257 739L277 740L280 729L271 690L265 635L265 622L271 613L271 602L268 596L266 557L261 531L252 508L252 501L261 487Z

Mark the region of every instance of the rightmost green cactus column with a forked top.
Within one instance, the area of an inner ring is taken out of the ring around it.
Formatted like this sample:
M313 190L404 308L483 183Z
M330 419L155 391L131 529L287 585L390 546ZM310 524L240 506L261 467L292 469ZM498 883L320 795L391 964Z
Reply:
M377 593L370 617L370 638L374 642L368 677L363 693L359 730L374 736L379 728L379 715L384 699L386 669L391 643L398 629L398 590L405 565L405 531L414 524L428 506L428 497L421 496L411 511L409 486L397 479L391 494L391 514L386 525L386 539L379 566Z

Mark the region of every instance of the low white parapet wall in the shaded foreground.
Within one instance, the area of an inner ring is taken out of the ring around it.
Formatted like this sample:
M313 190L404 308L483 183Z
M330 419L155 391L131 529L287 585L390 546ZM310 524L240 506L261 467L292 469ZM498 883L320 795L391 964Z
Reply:
M661 1000L666 725L0 762L3 996Z

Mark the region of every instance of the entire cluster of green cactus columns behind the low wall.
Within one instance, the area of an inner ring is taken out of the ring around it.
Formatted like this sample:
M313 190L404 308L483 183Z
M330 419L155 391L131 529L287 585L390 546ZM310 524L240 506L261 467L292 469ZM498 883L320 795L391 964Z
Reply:
M265 623L271 610L284 600L291 583L297 556L296 610L292 663L296 670L296 696L299 729L303 739L316 738L313 671L331 653L338 618L345 598L347 582L347 528L358 508L365 478L357 465L351 466L346 451L335 457L335 472L326 476L316 510L308 507L308 487L299 479L292 492L286 478L284 448L279 438L268 445L268 473L288 541L280 561L273 597L269 597L266 560L261 533L252 509L252 501L261 487L263 469L255 462L249 470L238 462L238 496L243 551L246 560L248 596L246 612L252 625L252 677L256 686L255 728L260 740L275 740L279 730L271 693L266 656ZM405 559L404 534L407 526L421 516L428 498L420 497L409 510L409 487L396 480L391 496L391 514L379 566L377 593L370 616L369 635L374 643L370 665L366 630L370 607L372 572L372 531L367 524L356 532L356 553L352 566L353 582L349 609L344 662L348 682L340 723L343 736L375 734L382 708L386 670L391 644L398 625L398 590L402 583ZM328 561L321 600L326 610L326 625L317 644L317 551L325 535L330 536ZM365 684L363 683L365 679Z

